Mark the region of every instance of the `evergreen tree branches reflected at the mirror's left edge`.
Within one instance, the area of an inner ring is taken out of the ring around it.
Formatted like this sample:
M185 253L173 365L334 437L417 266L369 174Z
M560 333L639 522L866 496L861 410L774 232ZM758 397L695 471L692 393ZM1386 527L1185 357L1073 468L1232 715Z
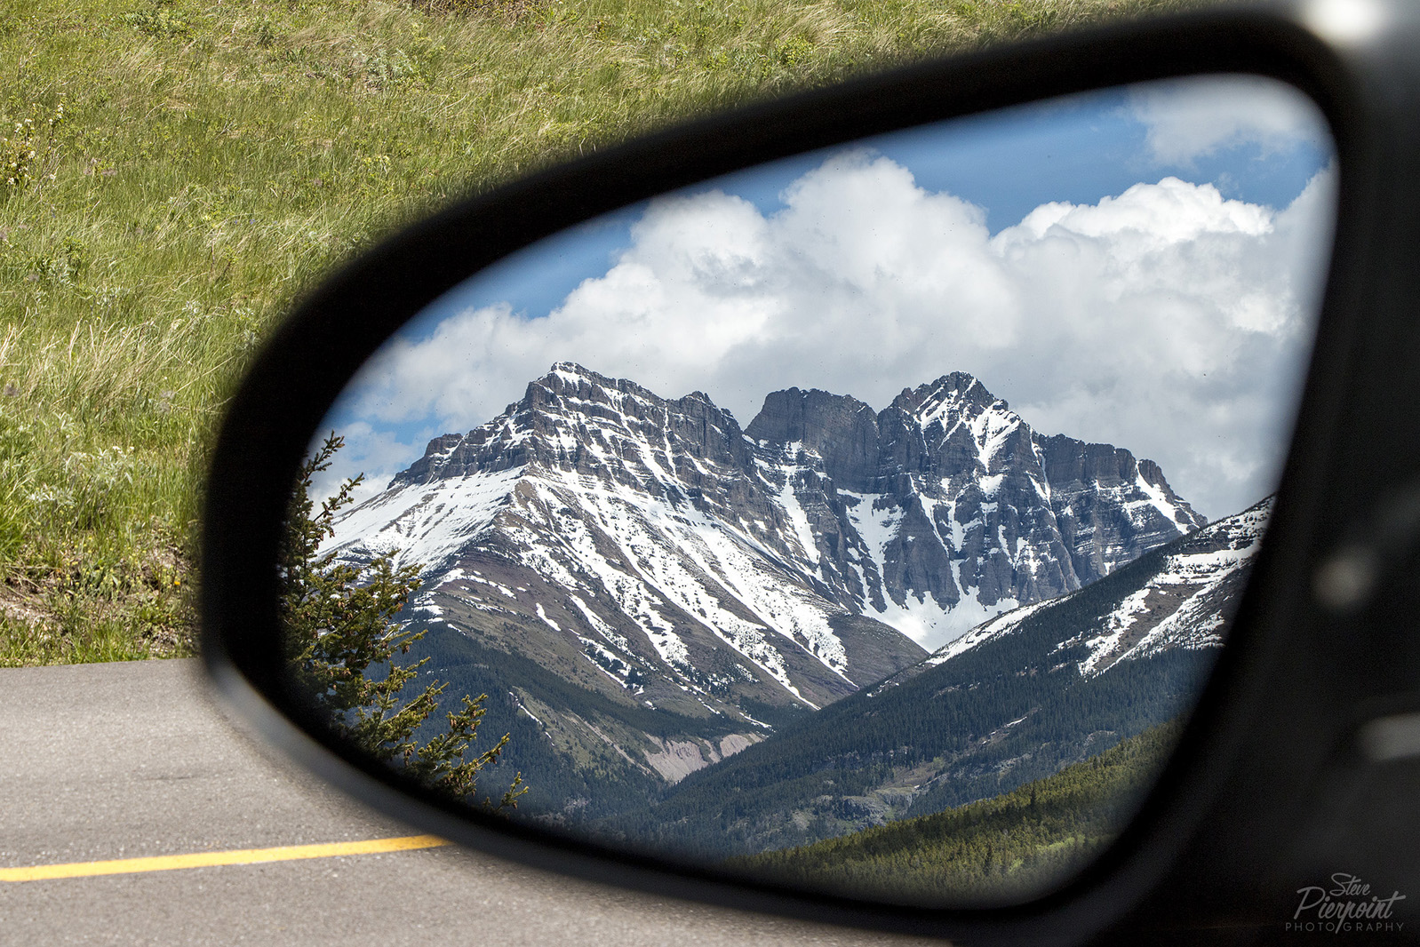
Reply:
M294 690L325 714L335 731L376 760L403 768L426 785L456 799L474 802L479 771L497 761L508 743L469 755L479 734L487 694L463 697L457 711L446 711L447 727L420 740L425 721L439 710L447 684L430 681L413 697L405 686L429 659L400 664L396 655L425 636L400 628L395 616L419 588L419 565L393 564L393 554L365 566L337 565L334 554L321 555L321 542L334 535L335 513L352 503L364 474L346 480L334 497L311 500L311 478L331 466L344 446L334 433L302 464L278 562L281 618L285 629L287 669ZM515 808L523 775L514 777L488 809Z

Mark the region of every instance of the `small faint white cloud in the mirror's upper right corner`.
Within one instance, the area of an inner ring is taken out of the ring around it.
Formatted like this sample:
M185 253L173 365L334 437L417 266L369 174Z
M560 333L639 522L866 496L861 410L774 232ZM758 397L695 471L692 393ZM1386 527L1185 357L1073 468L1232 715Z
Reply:
M1284 82L1217 75L1137 85L1130 111L1147 128L1156 160L1190 166L1221 148L1255 143L1264 150L1318 139L1326 128L1316 105Z

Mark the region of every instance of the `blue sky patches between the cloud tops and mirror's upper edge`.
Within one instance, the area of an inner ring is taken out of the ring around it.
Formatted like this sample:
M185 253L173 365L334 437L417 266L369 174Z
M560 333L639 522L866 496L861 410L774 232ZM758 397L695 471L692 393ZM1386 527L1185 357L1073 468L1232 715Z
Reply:
M1170 160L1147 148L1147 132L1130 109L1129 92L1112 89L882 135L870 146L909 168L919 186L985 210L993 233L1020 223L1039 204L1092 204L1167 175L1211 182L1225 197L1285 207L1331 156L1329 142L1312 138L1298 138L1289 148L1242 139ZM784 206L784 189L834 150L761 165L689 190L723 190L774 213ZM444 314L498 301L530 317L548 314L582 280L608 270L630 244L630 226L643 213L645 204L636 204L544 240L450 292L410 331L432 331Z

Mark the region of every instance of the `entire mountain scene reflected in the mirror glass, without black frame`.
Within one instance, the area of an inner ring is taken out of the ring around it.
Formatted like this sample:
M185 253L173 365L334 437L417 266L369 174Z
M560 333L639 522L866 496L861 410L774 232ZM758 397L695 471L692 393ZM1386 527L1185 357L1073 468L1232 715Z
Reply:
M1223 645L1335 176L1308 101L1213 77L534 246L406 325L312 444L291 683L552 832L899 903L1044 893Z

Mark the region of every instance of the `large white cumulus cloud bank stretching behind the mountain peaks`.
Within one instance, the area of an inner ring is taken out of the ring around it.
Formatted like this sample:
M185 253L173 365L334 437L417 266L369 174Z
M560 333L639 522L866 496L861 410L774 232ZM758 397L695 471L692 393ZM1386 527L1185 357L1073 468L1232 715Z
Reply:
M993 237L981 209L846 152L768 216L719 192L653 202L558 310L476 308L395 341L351 407L469 430L569 359L666 396L704 390L747 425L791 385L882 409L968 371L1037 430L1152 457L1224 515L1271 488L1285 447L1332 177L1282 212L1166 177L1044 204Z

